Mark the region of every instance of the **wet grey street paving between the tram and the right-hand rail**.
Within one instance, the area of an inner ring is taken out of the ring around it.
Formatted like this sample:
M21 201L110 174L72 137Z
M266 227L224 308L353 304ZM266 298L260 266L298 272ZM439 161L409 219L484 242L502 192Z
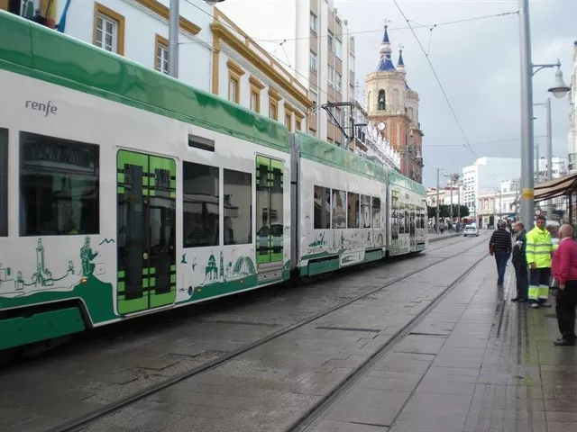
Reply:
M479 243L476 238L447 238L433 243L421 256L337 274L304 287L270 287L230 297L215 311L203 312L202 305L193 306L187 308L190 312L181 312L178 320L159 318L158 325L57 349L50 356L0 373L0 432L56 427ZM449 270L450 264L441 266ZM161 392L119 411L89 430L151 431L173 426L176 429L168 430L188 430L182 426L188 416L195 418L196 426L190 430L244 430L237 428L240 425L259 430L253 428L254 422L261 422L262 430L282 428L294 419L299 407L316 401L388 340L453 274L432 267L367 299L366 303L374 303L367 310L371 315L359 316L362 303L355 303L321 323L271 341L266 348L237 357L197 380L181 383L179 390ZM385 304L378 306L376 300ZM369 322L375 316L378 325ZM362 324L362 320L369 321ZM316 329L334 323L369 326L374 331ZM278 351L270 350L274 347ZM262 410L267 412L263 418Z

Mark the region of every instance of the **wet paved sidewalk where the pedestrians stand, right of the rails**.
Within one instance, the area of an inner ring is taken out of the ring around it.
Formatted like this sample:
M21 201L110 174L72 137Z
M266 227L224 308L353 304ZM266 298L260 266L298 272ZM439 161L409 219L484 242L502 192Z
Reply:
M577 347L554 309L510 302L488 257L313 426L321 431L577 431ZM554 299L552 299L554 300Z

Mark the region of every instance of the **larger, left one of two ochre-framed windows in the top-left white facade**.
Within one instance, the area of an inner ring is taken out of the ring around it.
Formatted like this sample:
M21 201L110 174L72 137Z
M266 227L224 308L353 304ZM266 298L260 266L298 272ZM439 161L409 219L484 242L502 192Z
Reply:
M124 16L95 3L93 43L96 47L124 55Z

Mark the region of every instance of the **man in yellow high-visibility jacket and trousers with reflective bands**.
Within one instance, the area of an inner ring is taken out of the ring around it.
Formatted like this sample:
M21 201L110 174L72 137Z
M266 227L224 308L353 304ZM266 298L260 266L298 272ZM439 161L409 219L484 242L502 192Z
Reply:
M545 216L537 216L536 227L527 232L528 302L532 308L551 307L551 303L548 302L549 276L551 275L551 254L556 247L551 241L551 234L545 229L545 221Z

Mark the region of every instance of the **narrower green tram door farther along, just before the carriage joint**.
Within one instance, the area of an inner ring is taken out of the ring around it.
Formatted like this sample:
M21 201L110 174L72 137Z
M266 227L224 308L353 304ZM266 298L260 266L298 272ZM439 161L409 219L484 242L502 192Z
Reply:
M256 263L259 274L277 273L283 266L284 163L256 157Z

